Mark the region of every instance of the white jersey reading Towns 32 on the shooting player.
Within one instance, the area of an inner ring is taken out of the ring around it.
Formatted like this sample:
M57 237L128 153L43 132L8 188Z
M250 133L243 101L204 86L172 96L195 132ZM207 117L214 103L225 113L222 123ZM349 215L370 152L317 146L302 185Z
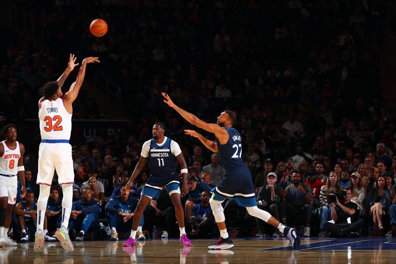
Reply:
M39 109L41 139L70 139L71 116L58 98L44 100Z

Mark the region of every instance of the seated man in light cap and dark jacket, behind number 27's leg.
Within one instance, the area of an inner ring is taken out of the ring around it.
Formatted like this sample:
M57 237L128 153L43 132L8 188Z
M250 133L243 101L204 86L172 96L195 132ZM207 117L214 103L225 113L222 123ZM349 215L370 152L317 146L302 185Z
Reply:
M267 184L265 186L261 186L258 190L256 202L259 209L271 213L275 219L286 224L286 205L283 202L281 195L283 188L276 184L277 178L278 177L275 172L269 172L267 174ZM259 230L256 236L262 237L264 236L264 233L279 236L278 230L275 230L274 227L268 224L266 225L263 220L256 217L256 222ZM265 232L266 226L267 232Z

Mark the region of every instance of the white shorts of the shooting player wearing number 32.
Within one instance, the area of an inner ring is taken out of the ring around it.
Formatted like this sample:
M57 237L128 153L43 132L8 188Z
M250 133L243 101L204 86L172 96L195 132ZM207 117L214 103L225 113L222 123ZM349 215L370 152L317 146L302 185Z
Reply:
M56 174L58 174L59 185L74 182L70 144L40 143L37 183L50 186L55 170Z

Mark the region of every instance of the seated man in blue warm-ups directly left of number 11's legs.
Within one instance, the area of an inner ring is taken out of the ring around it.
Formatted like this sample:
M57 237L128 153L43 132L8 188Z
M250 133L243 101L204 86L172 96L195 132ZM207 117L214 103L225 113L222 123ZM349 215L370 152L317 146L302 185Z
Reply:
M110 197L106 204L106 215L108 224L111 228L110 241L118 240L117 229L121 231L128 231L132 228L132 221L134 211L138 206L139 200L134 198L130 193L130 190L125 187L128 181L121 182L121 194L118 196ZM146 237L142 233L142 226L144 223L144 217L138 226L138 232L136 237L138 240L145 240Z

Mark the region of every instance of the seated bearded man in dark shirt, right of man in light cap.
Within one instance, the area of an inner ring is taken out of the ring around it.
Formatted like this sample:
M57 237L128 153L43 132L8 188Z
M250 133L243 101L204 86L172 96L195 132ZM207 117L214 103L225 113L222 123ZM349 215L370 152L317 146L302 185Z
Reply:
M300 173L295 170L292 174L293 184L285 189L285 201L287 204L287 217L291 216L296 223L296 216L301 215L303 221L303 236L310 236L310 221L312 215L313 197L311 187L301 183ZM302 230L302 227L299 228Z

